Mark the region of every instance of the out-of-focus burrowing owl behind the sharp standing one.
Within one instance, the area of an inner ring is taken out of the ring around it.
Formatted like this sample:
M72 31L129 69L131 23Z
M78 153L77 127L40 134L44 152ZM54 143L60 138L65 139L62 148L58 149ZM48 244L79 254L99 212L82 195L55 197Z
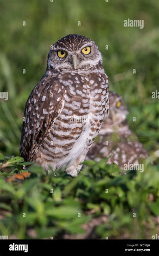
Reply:
M106 122L106 118L103 119L102 127L86 159L99 161L109 157L108 163L116 163L123 169L125 163L136 164L139 158L148 157L148 153L128 127L128 111L122 97L109 91L109 99L109 116Z

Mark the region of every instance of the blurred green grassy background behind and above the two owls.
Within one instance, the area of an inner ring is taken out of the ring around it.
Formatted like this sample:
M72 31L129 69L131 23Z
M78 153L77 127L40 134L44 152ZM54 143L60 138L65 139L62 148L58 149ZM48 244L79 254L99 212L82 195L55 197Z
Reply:
M130 128L149 152L157 149L159 105L151 93L159 82L158 0L0 0L0 7L0 91L8 92L8 101L0 100L2 152L18 154L25 102L45 73L50 45L67 34L97 43L110 90L128 106ZM144 29L124 27L128 18L144 20Z

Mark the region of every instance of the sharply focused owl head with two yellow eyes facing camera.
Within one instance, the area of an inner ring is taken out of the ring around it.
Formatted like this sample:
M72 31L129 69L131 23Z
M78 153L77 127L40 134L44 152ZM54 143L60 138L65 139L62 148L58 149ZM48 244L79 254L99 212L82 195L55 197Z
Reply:
M51 45L47 69L81 70L102 64L102 55L91 39L80 35L67 35Z

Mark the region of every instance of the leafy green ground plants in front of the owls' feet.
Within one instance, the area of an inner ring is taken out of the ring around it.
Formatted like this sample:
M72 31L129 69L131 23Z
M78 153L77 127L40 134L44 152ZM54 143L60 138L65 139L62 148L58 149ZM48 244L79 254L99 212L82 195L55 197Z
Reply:
M144 175L140 171L124 173L116 164L106 164L106 159L86 161L76 178L59 171L48 175L20 157L6 162L1 156L1 161L7 163L0 172L2 235L20 239L64 235L151 239L157 232L159 171L148 161L144 162ZM24 164L31 176L25 181L6 182ZM87 227L94 220L98 225L90 234Z

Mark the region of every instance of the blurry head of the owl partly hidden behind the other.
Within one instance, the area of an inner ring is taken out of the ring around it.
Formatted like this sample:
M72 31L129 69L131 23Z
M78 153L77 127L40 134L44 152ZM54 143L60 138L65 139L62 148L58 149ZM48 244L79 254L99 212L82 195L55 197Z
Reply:
M127 114L128 110L122 97L115 92L109 91L109 116L104 119L106 121L105 126L109 128L114 126L121 127L127 122Z

